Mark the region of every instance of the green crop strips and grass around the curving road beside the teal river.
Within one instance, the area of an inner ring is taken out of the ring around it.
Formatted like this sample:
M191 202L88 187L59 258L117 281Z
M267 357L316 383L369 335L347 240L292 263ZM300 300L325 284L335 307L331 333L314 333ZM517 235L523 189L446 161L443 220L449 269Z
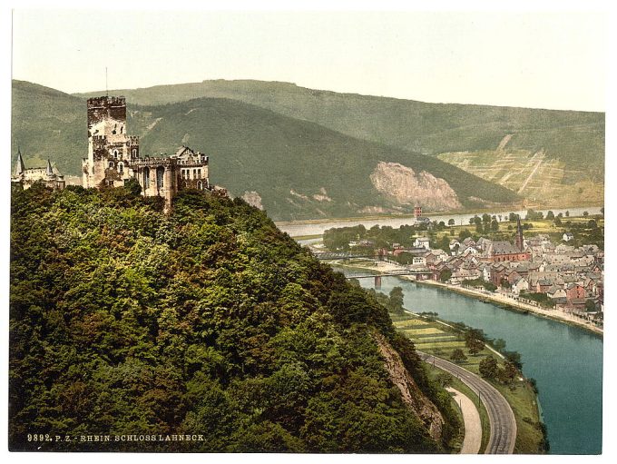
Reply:
M434 354L449 360L452 351L459 348L463 350L467 356L467 359L459 364L466 370L474 372L475 374L479 374L478 365L486 356L493 356L498 360L500 367L503 368L503 359L486 347L477 355L470 354L465 348L463 334L454 327L446 325L444 322L421 318L412 314L391 314L390 317L397 330L404 333L411 341L414 341L417 350L425 351L426 353ZM433 377L437 377L439 373L440 371L434 368L430 368L429 370L429 374ZM538 425L539 415L535 402L534 390L529 382L523 378L518 378L509 386L505 386L497 381L491 381L491 383L504 395L514 411L516 426L518 428L514 452L539 452L538 450L540 449L543 435ZM475 397L475 393L469 390L460 380L452 379L451 385L456 390L465 393L472 400L477 398ZM485 448L488 439L488 417L484 406L480 410L480 417L483 422L482 450Z

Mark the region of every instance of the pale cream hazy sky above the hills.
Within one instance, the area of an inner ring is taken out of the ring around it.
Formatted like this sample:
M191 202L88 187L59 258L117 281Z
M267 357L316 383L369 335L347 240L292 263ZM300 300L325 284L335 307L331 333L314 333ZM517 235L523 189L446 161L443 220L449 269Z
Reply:
M20 10L13 77L67 93L286 81L425 102L605 110L591 12Z

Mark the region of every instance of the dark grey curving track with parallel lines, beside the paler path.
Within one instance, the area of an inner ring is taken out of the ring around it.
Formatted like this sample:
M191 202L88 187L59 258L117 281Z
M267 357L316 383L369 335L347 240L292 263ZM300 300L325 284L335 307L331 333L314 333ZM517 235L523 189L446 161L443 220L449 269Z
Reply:
M516 420L514 412L504 396L486 380L465 370L456 364L436 358L433 355L417 351L420 357L435 367L460 379L467 387L480 393L480 400L485 405L491 427L491 435L486 445L486 454L512 454L516 441Z

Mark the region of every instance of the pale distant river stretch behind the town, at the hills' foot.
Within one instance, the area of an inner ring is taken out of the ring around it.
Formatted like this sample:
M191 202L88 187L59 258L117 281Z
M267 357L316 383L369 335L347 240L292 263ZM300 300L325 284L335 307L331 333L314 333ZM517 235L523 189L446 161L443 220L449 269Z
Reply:
M585 208L553 208L551 210L536 210L538 212L543 212L546 215L546 212L552 211L555 216L560 212L565 215L566 211L570 212L571 216L582 216L583 212L589 212L590 214L600 214L601 206L589 206ZM499 212L488 212L491 216L502 216L502 221L507 221L508 214L510 212L514 212L515 214L520 214L522 218L524 218L527 213L526 210L521 211L499 211ZM478 212L478 216L482 216L484 212ZM431 215L427 216L431 221L436 222L447 222L450 219L455 220L456 225L461 224L469 224L469 219L473 218L475 213L465 213L465 214L457 214L457 213L445 213L439 215ZM278 222L277 226L283 232L289 233L291 237L300 237L304 235L322 235L323 232L328 229L332 229L333 227L350 227L358 224L363 224L367 229L370 229L374 225L389 225L390 227L398 228L401 225L406 224L414 224L416 220L413 216L409 217L392 217L392 218L372 218L372 219L354 219L354 220L338 220L338 221L326 221L326 222Z

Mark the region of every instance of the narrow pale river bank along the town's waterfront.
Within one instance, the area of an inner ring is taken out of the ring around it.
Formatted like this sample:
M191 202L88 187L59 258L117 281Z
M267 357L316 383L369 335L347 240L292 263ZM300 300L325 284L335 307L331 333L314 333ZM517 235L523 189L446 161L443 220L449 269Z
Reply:
M351 267L357 269L364 269L369 271L377 271L381 273L387 273L388 271L400 271L401 267L397 264L393 264L390 262L354 262L353 264L342 264L338 263L338 266L342 267ZM451 285L439 281L416 281L411 276L403 275L399 276L401 279L405 279L406 281L415 281L416 283L420 283L423 285L431 285L435 287L439 287L445 289L447 291L455 291L457 293L461 293L472 298L475 298L480 301L492 301L496 303L498 306L504 308L508 311L518 311L524 313L531 313L537 317L543 317L547 319L552 319L553 321L559 321L566 324L574 325L585 331L590 331L596 336L603 338L604 331L595 326L590 321L583 321L572 314L568 314L561 310L547 310L544 308L539 308L537 306L533 306L531 304L524 303L523 301L516 301L512 297L508 297L501 293L489 293L486 291L473 290L468 288L462 288L458 285Z

